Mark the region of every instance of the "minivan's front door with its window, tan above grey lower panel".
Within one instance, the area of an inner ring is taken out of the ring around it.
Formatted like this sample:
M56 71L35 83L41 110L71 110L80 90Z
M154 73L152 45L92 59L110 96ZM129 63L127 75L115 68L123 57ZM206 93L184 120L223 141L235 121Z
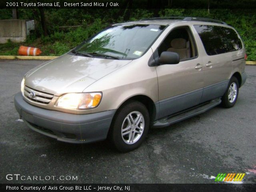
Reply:
M200 103L204 86L203 61L198 57L194 37L188 26L174 28L158 47L177 52L180 63L156 67L159 90L159 117L162 118Z

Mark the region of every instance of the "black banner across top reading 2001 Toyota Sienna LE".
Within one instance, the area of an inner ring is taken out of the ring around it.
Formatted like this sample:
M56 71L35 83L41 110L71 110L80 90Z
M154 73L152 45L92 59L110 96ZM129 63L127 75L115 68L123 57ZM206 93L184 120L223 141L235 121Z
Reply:
M5 0L0 8L256 8L254 0Z

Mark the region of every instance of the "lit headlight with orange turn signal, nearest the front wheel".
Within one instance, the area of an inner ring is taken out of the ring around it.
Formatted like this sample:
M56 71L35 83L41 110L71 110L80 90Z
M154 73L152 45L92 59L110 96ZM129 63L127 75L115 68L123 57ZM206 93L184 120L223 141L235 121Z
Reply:
M102 93L67 93L56 103L57 107L67 109L92 109L100 104Z

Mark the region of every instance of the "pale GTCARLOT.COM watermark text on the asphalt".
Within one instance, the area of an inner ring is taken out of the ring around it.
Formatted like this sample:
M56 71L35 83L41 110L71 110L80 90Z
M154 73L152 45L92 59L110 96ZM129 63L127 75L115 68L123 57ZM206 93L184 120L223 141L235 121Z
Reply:
M49 180L61 180L61 181L77 181L78 176L70 176L70 175L46 175L46 176L38 176L38 175L20 175L20 174L7 174L6 180L22 180L22 181L49 181Z

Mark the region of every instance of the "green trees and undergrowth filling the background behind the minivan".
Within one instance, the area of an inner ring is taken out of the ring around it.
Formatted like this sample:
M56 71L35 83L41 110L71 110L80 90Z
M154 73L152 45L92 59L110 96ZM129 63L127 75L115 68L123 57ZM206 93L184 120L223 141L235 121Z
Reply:
M131 2L127 0L127 8ZM43 51L42 55L61 55L113 23L150 17L205 17L222 20L236 28L246 46L248 60L256 60L254 9L210 9L208 12L207 6L205 9L170 9L169 7L175 6L177 1L168 3L162 4L160 9L45 9L46 29L42 26L40 10L18 9L19 19L33 19L36 25L35 31L22 44L39 47ZM154 7L154 4L148 6ZM11 9L0 10L0 19L11 18ZM19 45L12 42L8 42L6 46L0 44L0 54L16 55L16 46ZM10 50L12 46L14 48Z

